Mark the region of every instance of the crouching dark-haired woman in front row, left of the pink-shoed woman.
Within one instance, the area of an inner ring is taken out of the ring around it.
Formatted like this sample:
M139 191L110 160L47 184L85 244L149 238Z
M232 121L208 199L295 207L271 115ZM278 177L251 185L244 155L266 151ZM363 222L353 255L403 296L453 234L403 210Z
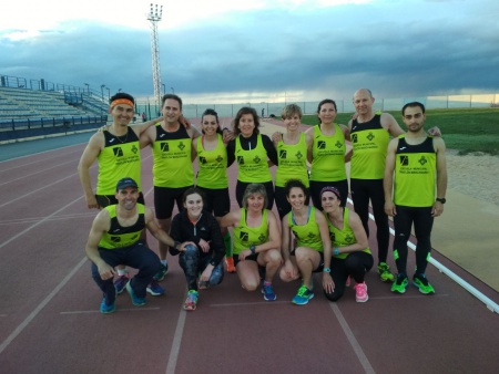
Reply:
M292 302L305 305L314 298L313 273L323 271L324 256L332 253L329 230L323 212L305 205L306 187L301 180L291 179L284 188L292 210L282 221L284 266L279 276L285 282L302 278L302 285ZM291 249L292 232L296 238L294 250Z

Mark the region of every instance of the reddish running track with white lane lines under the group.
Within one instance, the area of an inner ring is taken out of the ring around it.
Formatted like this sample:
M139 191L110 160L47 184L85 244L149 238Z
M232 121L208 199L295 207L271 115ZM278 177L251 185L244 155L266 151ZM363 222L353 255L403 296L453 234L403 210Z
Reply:
M86 209L77 175L82 150L78 145L0 164L0 373L498 372L498 315L431 266L432 297L414 287L393 294L371 270L365 304L355 302L354 290L328 302L316 278L315 298L297 307L291 303L297 282L276 279L277 301L266 302L226 274L200 292L195 312L185 312L183 272L169 257L165 295L135 308L124 292L114 314L100 314L101 293L84 256L96 211ZM152 206L150 149L143 159ZM95 180L96 167L91 172ZM235 181L234 167L230 173Z

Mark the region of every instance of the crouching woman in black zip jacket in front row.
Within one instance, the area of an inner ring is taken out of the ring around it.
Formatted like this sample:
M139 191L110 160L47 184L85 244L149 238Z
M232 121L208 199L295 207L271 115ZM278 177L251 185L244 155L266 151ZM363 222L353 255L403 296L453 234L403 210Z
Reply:
M222 282L225 247L217 220L210 212L203 211L203 193L191 187L185 190L182 201L184 209L173 218L170 230L173 240L183 243L175 246L182 248L182 251L170 247L170 253L180 254L179 263L184 270L189 289L184 309L192 311L196 309L200 288Z

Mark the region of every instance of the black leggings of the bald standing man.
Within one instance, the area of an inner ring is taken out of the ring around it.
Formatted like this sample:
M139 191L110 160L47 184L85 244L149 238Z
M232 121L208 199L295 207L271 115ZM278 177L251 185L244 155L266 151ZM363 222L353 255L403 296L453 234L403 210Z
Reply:
M385 193L383 179L350 179L352 200L355 212L360 217L367 237L369 237L369 200L373 205L373 216L376 222L376 239L378 242L378 262L386 262L390 229L388 216L385 212Z

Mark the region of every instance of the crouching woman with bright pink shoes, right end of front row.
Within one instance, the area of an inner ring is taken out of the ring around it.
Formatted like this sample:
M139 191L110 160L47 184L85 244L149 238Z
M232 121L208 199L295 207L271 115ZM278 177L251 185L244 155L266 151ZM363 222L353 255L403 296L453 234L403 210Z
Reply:
M374 261L363 222L355 211L342 207L342 195L336 187L324 187L320 201L334 247L330 268L326 268L324 261L324 277L328 283L326 298L330 301L342 298L350 278L356 282L355 300L366 302L369 297L365 276Z

